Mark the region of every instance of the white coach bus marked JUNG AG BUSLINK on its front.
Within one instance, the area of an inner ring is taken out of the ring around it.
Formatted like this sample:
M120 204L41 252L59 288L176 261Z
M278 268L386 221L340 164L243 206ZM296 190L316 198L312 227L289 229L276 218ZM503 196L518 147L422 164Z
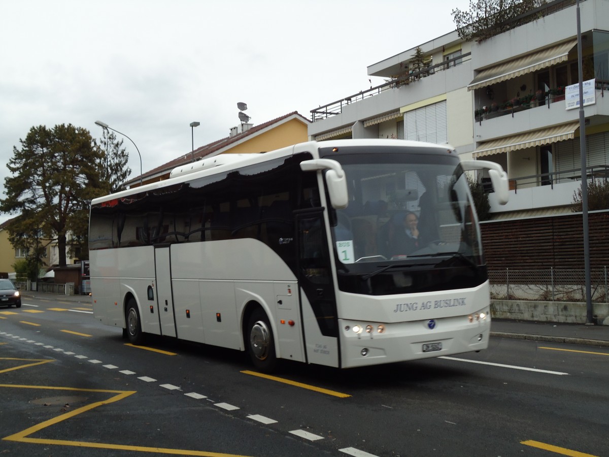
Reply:
M135 344L149 333L245 350L259 370L485 349L474 168L505 203L501 166L401 140L216 155L94 199L94 316Z

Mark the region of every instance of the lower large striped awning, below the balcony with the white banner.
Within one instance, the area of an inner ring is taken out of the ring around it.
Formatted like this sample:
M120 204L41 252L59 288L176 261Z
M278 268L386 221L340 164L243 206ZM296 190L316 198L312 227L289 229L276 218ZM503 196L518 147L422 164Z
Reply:
M531 130L518 135L505 136L498 140L485 141L476 147L473 157L499 154L501 152L518 151L527 147L540 146L541 144L557 143L558 141L571 140L579 129L579 122L569 122L560 126L548 127L547 129Z

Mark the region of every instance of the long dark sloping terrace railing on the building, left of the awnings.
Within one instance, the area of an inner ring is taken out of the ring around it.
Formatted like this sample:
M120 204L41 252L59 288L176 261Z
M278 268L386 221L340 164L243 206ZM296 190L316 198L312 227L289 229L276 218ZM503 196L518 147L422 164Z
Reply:
M353 102L380 94L384 90L401 87L421 78L431 76L437 71L443 71L452 68L466 60L470 60L470 58L471 52L466 52L465 54L459 55L449 60L445 60L444 62L438 63L437 65L428 66L420 71L413 71L408 74L404 74L403 76L382 83L379 86L371 87L368 90L362 90L361 92L358 92L356 94L342 98L335 102L328 103L327 105L320 106L319 108L311 110L311 121L320 121L322 119L329 118L330 116L339 115L340 113L342 113L342 108L345 105L350 105Z

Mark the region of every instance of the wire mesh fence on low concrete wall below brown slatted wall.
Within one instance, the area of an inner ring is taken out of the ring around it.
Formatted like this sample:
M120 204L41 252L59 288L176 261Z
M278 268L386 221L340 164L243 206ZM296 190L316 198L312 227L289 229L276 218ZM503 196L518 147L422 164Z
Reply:
M489 270L491 299L585 302L584 270ZM607 267L590 271L591 301L607 303Z

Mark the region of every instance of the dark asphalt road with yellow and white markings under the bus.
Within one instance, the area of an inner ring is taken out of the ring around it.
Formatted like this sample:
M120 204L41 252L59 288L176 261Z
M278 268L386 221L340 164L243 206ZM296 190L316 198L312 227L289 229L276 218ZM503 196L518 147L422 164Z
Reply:
M121 333L86 299L0 308L0 453L609 455L607 348L492 338L463 356L261 377L239 352Z

